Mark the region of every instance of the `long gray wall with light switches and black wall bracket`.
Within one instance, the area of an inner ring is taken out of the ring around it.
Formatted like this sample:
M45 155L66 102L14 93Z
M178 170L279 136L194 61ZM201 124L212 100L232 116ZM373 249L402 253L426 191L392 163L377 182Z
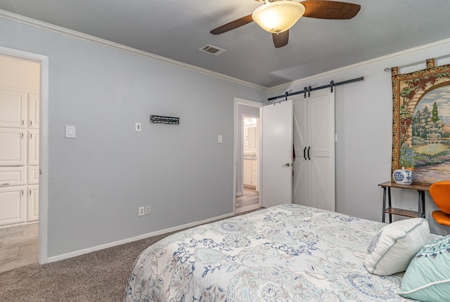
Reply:
M264 101L265 89L12 20L0 28L0 46L49 57L49 257L233 213L234 98ZM138 217L144 205L152 214Z

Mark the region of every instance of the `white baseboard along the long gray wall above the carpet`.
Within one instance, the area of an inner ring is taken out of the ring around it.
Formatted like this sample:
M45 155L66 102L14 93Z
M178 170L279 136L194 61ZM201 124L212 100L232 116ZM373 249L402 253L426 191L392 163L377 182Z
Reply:
M100 251L102 249L108 249L110 247L116 247L117 245L120 245L120 244L126 244L126 243L129 243L129 242L134 242L134 241L137 241L137 240L146 239L148 237L162 235L162 234L165 234L167 232L175 232L175 231L183 230L185 228L193 228L193 227L195 227L197 225L202 225L204 223L210 223L212 221L218 221L220 219L229 218L229 217L231 217L233 215L234 215L234 213L225 214L225 215L221 215L221 216L217 216L217 217L213 217L213 218L208 218L208 219L205 219L203 221L196 221L196 222L193 222L193 223L186 223L185 225L179 225L179 226L176 226L176 227L173 227L173 228L167 228L165 230L158 230L158 231L155 231L155 232L148 232L148 233L143 234L143 235L130 237L130 238L127 238L127 239L122 239L122 240L118 240L118 241L115 241L115 242L109 242L109 243L106 243L106 244L100 244L100 245L97 245L96 247L89 247L87 249L80 249L78 251L71 251L70 253L66 253L66 254L60 254L60 255L57 255L57 256L51 256L47 260L49 262L60 261L60 260L63 260L63 259L72 258L72 257L75 257L75 256L80 256L80 255L83 255L83 254L91 253L92 251Z

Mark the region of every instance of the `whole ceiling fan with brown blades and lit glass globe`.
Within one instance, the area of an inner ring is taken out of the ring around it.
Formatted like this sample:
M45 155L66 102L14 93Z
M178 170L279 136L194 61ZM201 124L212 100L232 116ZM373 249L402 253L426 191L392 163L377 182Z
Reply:
M255 21L271 32L276 48L288 44L289 29L300 17L345 20L352 19L361 9L359 4L328 0L255 0L262 2L252 14L212 29L211 34L223 34Z

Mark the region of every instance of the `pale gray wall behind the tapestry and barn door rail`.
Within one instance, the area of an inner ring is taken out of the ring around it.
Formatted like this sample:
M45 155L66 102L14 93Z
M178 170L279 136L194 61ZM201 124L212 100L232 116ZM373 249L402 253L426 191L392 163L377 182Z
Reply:
M381 221L383 189L379 183L390 180L392 155L392 82L386 67L416 63L450 54L450 40L414 48L383 58L331 70L273 88L270 96L302 91L305 86L327 85L364 77L364 81L335 87L336 210L352 216ZM443 64L444 60L437 62ZM418 65L416 70L423 68ZM407 71L411 72L411 67ZM295 98L302 98L296 96ZM412 191L412 192L411 192ZM413 190L392 189L395 206L417 211L418 194ZM427 211L436 209L426 193ZM430 221L435 232L450 232Z

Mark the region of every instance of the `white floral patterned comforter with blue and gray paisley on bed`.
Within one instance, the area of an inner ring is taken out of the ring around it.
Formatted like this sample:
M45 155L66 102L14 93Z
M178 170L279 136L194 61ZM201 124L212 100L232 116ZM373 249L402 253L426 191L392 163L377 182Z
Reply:
M384 225L297 204L201 225L144 250L124 301L408 301L364 266Z

